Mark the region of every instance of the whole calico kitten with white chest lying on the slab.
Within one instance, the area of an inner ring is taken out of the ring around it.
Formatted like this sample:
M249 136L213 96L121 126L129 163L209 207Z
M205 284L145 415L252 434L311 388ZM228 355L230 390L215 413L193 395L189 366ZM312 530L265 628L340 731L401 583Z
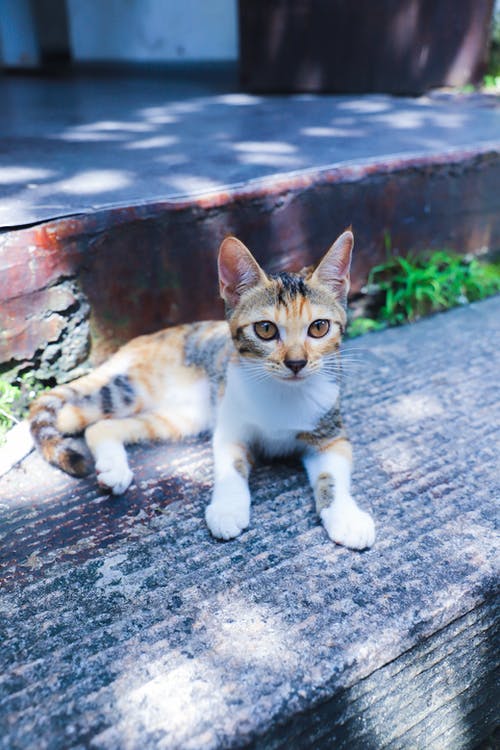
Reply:
M329 537L370 547L374 523L351 496L351 445L339 412L353 243L346 231L315 269L266 274L227 237L218 259L227 320L140 336L91 374L44 393L30 413L35 444L74 476L89 473L93 459L99 484L120 494L132 482L125 444L212 430L205 517L220 539L249 525L254 456L296 453ZM70 437L82 433L85 441Z

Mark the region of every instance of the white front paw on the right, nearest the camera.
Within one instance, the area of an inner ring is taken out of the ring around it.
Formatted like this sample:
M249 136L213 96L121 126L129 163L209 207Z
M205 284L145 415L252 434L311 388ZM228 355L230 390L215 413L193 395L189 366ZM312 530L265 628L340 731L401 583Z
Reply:
M344 547L367 549L375 541L373 518L354 501L347 505L334 502L321 512L321 520L330 539Z

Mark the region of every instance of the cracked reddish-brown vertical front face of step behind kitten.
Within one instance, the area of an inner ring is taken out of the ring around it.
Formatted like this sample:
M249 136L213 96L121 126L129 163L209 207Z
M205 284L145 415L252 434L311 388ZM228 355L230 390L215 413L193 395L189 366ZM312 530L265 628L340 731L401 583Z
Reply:
M0 363L31 362L40 376L64 380L88 356L89 325L98 362L132 336L220 317L215 261L228 233L269 270L297 270L353 224L354 292L386 258L386 235L401 252L498 250L499 182L499 151L482 144L268 177L7 232L0 237Z

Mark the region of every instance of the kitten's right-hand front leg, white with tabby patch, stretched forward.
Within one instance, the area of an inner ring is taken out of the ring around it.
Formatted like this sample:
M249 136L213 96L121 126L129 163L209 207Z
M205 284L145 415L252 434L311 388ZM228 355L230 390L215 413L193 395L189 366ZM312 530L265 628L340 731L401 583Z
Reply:
M316 510L330 539L351 549L371 547L375 524L351 495L352 450L342 438L304 456L309 481L314 490Z

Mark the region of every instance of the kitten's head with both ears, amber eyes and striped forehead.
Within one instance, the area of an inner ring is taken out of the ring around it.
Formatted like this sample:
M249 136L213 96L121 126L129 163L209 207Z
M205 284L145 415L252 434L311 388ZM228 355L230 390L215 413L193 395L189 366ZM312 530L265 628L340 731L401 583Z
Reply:
M224 241L221 292L236 350L255 379L294 384L335 371L352 249L352 235L344 234L347 241L342 235L315 271L275 276L265 274L238 240Z

